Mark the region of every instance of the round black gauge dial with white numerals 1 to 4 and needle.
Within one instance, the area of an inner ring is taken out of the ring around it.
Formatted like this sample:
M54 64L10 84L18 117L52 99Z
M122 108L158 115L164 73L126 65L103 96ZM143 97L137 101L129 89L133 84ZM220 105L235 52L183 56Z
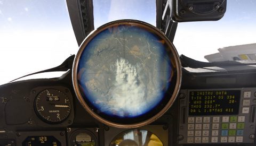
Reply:
M50 124L63 122L71 111L71 99L56 89L45 89L39 92L34 105L36 114Z

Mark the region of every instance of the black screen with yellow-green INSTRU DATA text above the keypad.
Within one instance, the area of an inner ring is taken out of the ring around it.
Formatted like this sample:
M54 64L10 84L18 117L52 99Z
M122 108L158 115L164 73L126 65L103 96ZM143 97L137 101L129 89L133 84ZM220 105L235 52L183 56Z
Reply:
M189 115L236 115L240 94L239 90L190 91Z

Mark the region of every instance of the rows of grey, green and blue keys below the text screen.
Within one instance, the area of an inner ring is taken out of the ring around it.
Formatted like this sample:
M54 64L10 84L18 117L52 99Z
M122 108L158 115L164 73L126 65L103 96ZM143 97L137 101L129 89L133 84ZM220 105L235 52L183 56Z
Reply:
M245 116L188 117L187 143L243 142Z

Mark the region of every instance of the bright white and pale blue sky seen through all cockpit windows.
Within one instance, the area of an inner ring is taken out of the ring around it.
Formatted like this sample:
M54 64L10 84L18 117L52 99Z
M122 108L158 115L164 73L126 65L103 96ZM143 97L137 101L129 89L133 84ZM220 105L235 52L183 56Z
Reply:
M95 0L94 28L117 19L156 25L156 2ZM255 43L256 1L228 0L220 21L179 23L174 45L198 61L219 48ZM0 0L0 84L61 64L78 45L65 0Z

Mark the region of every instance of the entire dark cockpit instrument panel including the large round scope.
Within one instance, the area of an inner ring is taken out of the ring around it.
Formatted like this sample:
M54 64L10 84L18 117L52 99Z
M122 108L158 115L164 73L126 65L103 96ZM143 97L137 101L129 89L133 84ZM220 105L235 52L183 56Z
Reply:
M256 65L207 70L135 20L95 30L71 62L0 86L0 146L255 145Z

